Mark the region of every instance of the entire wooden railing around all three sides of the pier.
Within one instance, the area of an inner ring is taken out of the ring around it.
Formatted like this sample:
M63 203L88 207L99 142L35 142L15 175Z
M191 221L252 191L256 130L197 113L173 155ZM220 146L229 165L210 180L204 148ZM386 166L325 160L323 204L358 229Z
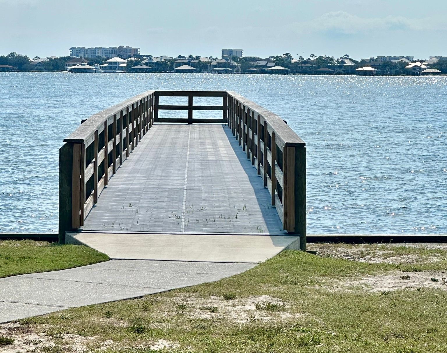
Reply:
M188 105L160 105L159 97L188 97ZM222 105L194 105L193 97L222 97ZM159 118L159 110L188 110L188 118ZM222 119L193 118L221 110ZM59 241L79 229L123 161L154 122L228 123L271 194L287 232L306 248L305 143L276 114L227 91L148 91L83 121L59 151Z

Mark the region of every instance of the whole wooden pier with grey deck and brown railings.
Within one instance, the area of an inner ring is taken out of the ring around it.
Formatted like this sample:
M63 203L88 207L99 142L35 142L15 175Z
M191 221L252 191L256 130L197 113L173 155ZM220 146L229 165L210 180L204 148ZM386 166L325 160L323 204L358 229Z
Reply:
M187 105L161 105L185 97ZM220 105L194 105L219 97ZM187 118L161 118L186 110ZM222 118L194 118L194 111ZM82 122L59 159L67 232L299 236L306 248L305 143L229 91L148 91Z

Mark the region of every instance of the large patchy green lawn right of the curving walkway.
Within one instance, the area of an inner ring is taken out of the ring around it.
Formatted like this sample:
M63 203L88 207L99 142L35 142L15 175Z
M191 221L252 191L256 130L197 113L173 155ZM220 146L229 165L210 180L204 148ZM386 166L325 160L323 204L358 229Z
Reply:
M404 248L397 251L405 254ZM430 251L423 252L430 255ZM445 270L447 252L440 255L443 258L436 262L424 258L412 266L421 271ZM87 344L89 352L149 352L141 345L160 339L177 343L165 350L176 353L447 352L447 291L417 288L372 293L358 287L344 291L330 287L333 280L385 274L408 266L286 251L217 282L20 322L25 325L23 331L46 332L58 338L65 333L94 337L96 343ZM223 299L228 293L236 296L234 305L253 296L282 301L255 301L261 311L235 321L224 315L233 302ZM220 300L222 306L204 304L211 299ZM204 303L197 304L197 300ZM197 312L214 316L204 318ZM291 315L288 319L278 319L286 312ZM266 315L272 319L261 320ZM113 340L115 345L100 350L97 342L105 340Z

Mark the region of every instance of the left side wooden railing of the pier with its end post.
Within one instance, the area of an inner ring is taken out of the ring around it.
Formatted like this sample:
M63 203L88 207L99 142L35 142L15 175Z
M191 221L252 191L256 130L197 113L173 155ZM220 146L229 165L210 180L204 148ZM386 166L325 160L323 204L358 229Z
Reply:
M154 123L151 90L94 114L59 150L59 241L84 225L102 190Z

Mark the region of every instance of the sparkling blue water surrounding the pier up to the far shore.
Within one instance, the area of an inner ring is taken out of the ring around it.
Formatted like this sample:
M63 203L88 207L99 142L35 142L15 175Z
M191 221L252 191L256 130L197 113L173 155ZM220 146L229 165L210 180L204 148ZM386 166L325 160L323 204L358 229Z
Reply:
M0 73L0 232L57 232L59 147L151 89L234 90L307 143L308 233L447 233L447 77Z

